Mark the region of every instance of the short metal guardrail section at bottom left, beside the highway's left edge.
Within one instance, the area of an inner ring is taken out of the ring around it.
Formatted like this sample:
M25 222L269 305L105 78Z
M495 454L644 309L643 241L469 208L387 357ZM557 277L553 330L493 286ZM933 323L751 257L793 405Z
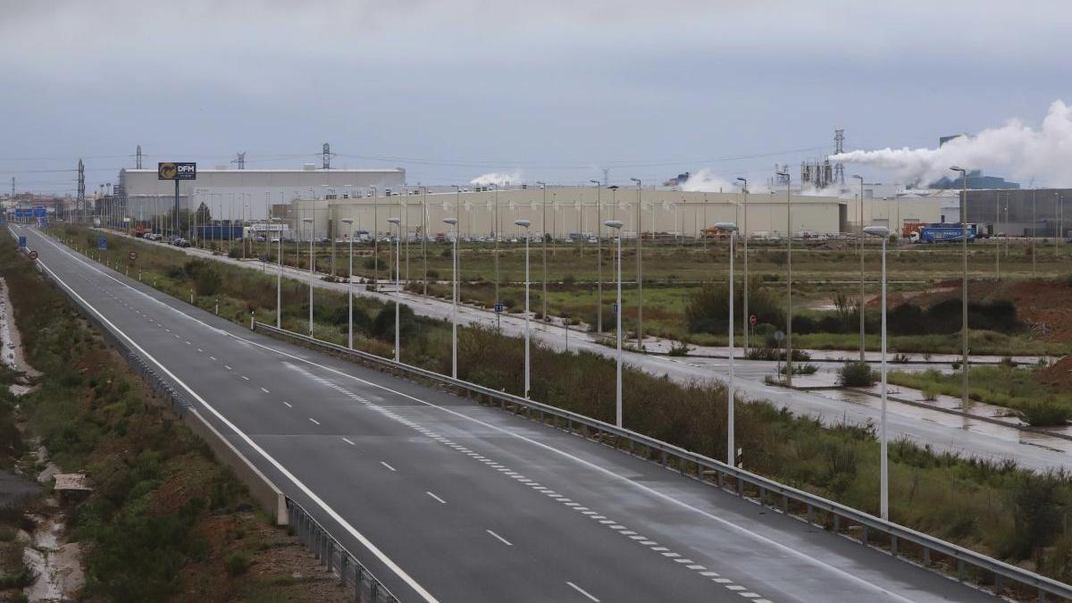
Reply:
M355 601L358 603L399 603L397 597L376 576L372 575L346 547L339 543L321 524L300 504L286 499L286 512L291 527L298 540L304 543L319 561L324 569L339 576L339 584L354 589Z

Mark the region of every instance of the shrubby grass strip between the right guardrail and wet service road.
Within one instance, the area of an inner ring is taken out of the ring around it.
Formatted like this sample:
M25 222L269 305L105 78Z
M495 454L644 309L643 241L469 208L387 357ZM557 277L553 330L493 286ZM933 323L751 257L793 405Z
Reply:
M188 258L137 241L111 245L109 255L124 256L136 246L144 252L143 258L154 263L154 269L176 275L174 281L158 286L180 294L190 289L192 277L179 278ZM239 267L217 265L214 269L220 273L220 295L228 298L228 308L244 305L255 309L258 317L271 315L274 296L266 306L262 289L273 294L274 279ZM284 325L303 330L307 290L288 283L287 291L292 290L285 298L288 306ZM317 337L342 342L345 295L316 295ZM199 303L204 306L207 300ZM361 302L361 308L364 318L355 321L360 333L356 345L388 355L393 311L390 306L370 302ZM449 325L404 315L410 324L403 326L403 358L448 372ZM228 317L240 324L249 320L244 311ZM520 394L523 354L518 338L461 328L459 377ZM611 359L536 345L532 368L534 399L613 421L615 369ZM720 384L681 385L630 369L625 373L624 393L626 427L701 454L721 456L726 402ZM736 439L749 470L877 513L879 451L872 427L824 428L816 421L795 417L765 402L743 402L736 407ZM891 516L895 521L1058 579L1072 579L1072 534L1063 528L1064 510L1072 503L1072 481L1068 476L1022 471L1011 464L963 459L905 441L894 442L890 455Z

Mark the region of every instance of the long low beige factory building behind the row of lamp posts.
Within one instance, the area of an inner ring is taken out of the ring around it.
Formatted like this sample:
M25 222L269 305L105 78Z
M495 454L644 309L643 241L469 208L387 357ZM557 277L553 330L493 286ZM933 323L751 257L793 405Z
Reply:
M309 200L294 198L288 207L279 207L277 216L287 215L287 221L302 238L345 239L353 220L355 232L394 232L388 219L398 217L411 238L427 233L449 234L445 218L458 220L462 237L491 237L498 230L502 236L521 236L515 220L532 222L532 234L538 238L546 231L555 238L594 236L598 224L621 220L623 236L636 237L654 233L660 237L700 237L703 229L717 222L735 222L742 231L747 216L747 232L754 237L784 237L787 230L786 194L750 194L684 192L669 189L643 189L640 192L641 212L637 214L637 189L595 187L528 187L512 190L423 193L413 187L407 194L361 198ZM415 194L416 193L416 194ZM495 226L495 207L498 224ZM546 200L546 201L545 201ZM545 221L546 216L546 221ZM312 222L304 220L311 219ZM794 236L803 233L833 235L846 230L846 201L834 196L792 195ZM300 229L300 231L299 231ZM602 229L602 236L609 236Z

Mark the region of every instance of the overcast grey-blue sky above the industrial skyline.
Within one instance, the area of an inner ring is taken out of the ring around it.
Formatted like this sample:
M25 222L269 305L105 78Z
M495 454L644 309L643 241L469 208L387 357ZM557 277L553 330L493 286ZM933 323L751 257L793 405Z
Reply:
M727 179L1072 101L1059 1L0 0L3 190L148 162ZM31 159L24 159L31 158ZM54 158L54 159L39 159ZM733 159L745 158L745 159ZM875 174L881 178L882 174Z

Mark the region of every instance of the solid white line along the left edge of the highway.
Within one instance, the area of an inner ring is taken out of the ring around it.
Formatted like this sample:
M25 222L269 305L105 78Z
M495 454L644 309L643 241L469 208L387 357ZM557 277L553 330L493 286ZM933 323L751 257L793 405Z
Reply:
M59 246L56 245L55 242L53 242L51 240L49 240L47 237L45 238L45 240L47 240L54 247L56 247L57 249L59 249ZM77 260L77 258L75 258L75 259ZM85 262L81 262L81 260L78 260L78 262L80 262L83 264L86 264ZM163 371L164 374L166 374L173 381L175 381L176 383L178 383L179 385L181 385L182 388L185 389L187 393L189 393L191 396L193 396L193 398L195 400L197 400L198 403L200 403L206 410L208 410L210 413L212 413L212 415L215 416L221 423L223 423L224 425L226 425L227 428L229 428L232 431L234 431L239 438L241 438L251 448L253 448L257 454L259 454L265 460L267 460L269 464L271 464L272 467L276 468L277 471L279 471L287 480L289 480L298 489L300 489L307 497L309 497L310 500L312 500L315 504L317 504L321 509L323 509L325 513L327 513L332 519L334 519L340 526L342 526L343 529L345 529L347 532L349 532L351 535L353 535L355 539L357 539L357 541L360 542L361 545L363 545L367 549L369 549L369 551L372 553L372 555L374 555L376 557L376 559L378 559L384 565L386 565L391 572L393 572L394 575L397 575L400 579L402 579L402 582L404 582L410 588L412 588L415 592L417 592L418 595L420 595L428 603L438 603L438 600L435 597L433 597L431 592L429 592L428 590L426 590L425 587L420 586L420 584L418 584L417 580L415 580L408 573L406 573L405 570L403 570L401 567L398 565L398 563L396 563L394 561L392 561L390 559L390 557L388 557L386 554L384 554L384 551L381 550L379 547L377 547L375 544L373 544L372 541L370 541L368 538L366 538L364 534L362 534L361 532L359 532L357 530L357 528L355 528L348 521L346 521L346 519L343 518L342 515L340 515L334 509L332 509L330 505L328 505L328 503L325 502L321 497L318 497L316 495L316 492L314 492L313 490L311 490L300 480L298 480L298 477L294 473L291 473L291 471L285 466L283 466L283 464L281 464L280 461L276 460L274 457L272 457L271 455L269 455L267 451L265 451L264 448L262 448L256 442L253 441L252 438L250 438L248 435L245 435L245 432L242 431L241 429L239 429L237 425L235 425L226 416L224 416L223 413L221 413L220 411L215 410L215 408L212 407L211 405L209 405L208 401L205 398L203 398L199 395L197 395L197 393L194 392L194 389L192 387L190 387L190 385L188 385L184 381L182 381L181 379L179 379L174 372L172 372L170 370L168 370L168 368L166 366L164 366L163 363L161 363L152 354L150 354L149 352L147 352L145 350L145 348L142 348L136 341L134 341L134 339L132 337L130 337L129 335L126 335L125 332L123 332L121 328L119 328L118 326L116 326L115 323L113 323L107 318L105 318L105 315L100 310L98 310L95 307L93 307L89 302L87 302L85 297L83 297L81 295L78 295L78 293L73 288L71 288L71 285L69 285L66 282L64 282L63 279L61 279L59 277L59 275L57 275L51 268L49 268L48 265L44 261L39 260L38 261L38 265L40 265L42 268L44 268L46 271L48 271L48 274L51 275L51 277L54 279L56 279L57 282L59 282L60 284L62 284L71 293L72 296L74 296L75 298L77 298L87 308L89 308L92 312L94 312L98 315L98 318L113 330L113 333L115 333L119 337L125 339L126 342L132 348L134 348L140 354L143 354L143 357L145 357L146 359L148 359L152 364L154 364L158 367L160 367L160 370ZM93 268L93 269L95 270L95 268ZM102 275L104 274L104 273L101 273L100 270L96 270L96 271L100 273L100 274L102 274ZM105 276L107 276L107 275L105 275ZM113 277L109 276L108 278L113 278ZM122 281L119 281L118 279L114 279L113 278L113 280L115 280L116 282L122 283ZM128 288L130 288L130 289L132 289L134 291L138 291L138 290L130 286L126 283L122 283L122 284L124 284L125 286L128 286ZM144 292L138 291L138 293L143 293L143 295L145 295ZM149 295L146 295L146 297L149 297L150 299L152 299L152 297L149 296ZM163 304L162 302L160 302L160 303ZM167 306L166 304L163 304L163 305ZM179 312L179 313L182 313L182 312Z

